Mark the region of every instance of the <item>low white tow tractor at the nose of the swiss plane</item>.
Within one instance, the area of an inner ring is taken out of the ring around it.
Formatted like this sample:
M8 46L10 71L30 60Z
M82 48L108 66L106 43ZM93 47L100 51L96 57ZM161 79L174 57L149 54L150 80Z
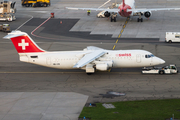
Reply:
M169 66L164 67L151 67L151 68L143 68L143 74L177 74L178 70L175 64L171 64Z

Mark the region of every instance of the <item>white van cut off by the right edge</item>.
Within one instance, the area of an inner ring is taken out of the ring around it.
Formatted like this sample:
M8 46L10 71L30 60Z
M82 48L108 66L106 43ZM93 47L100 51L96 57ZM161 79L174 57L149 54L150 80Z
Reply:
M166 32L166 42L180 42L180 32Z

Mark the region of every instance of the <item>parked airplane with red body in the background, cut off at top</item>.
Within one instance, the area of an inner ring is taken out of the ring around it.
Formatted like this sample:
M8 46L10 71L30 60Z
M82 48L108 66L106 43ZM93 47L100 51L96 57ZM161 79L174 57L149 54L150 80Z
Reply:
M66 9L70 10L94 10L94 11L106 11L104 13L105 17L110 17L111 13L119 13L122 17L130 17L130 16L139 16L137 18L137 22L143 22L142 16L149 18L152 15L152 11L159 10L180 10L180 8L135 8L135 0L123 0L121 4L116 5L118 9L103 9L103 8L74 8L74 7L66 7Z

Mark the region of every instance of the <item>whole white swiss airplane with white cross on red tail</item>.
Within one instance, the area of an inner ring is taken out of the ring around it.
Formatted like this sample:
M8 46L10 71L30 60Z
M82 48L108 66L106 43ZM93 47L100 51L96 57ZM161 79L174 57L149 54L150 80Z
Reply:
M106 50L88 46L80 51L45 51L25 32L12 31L4 39L11 39L22 62L57 69L83 69L87 74L110 68L148 67L165 63L145 50Z

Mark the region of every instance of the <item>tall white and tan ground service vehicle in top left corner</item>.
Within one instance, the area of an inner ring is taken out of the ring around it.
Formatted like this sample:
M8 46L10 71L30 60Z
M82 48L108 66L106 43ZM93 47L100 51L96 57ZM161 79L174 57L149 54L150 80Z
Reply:
M14 8L16 2L4 0L0 3L0 21L15 20L16 9Z

